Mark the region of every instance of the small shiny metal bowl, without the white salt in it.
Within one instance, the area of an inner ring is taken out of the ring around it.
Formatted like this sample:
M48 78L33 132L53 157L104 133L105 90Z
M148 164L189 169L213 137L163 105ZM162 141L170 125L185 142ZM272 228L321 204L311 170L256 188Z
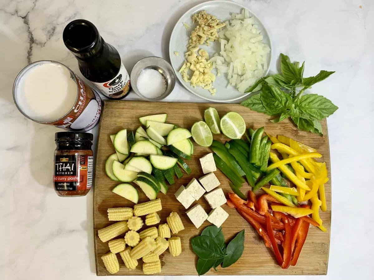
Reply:
M160 74L163 76L166 82L166 90L163 94L161 94L158 97L155 98L149 98L144 95L142 95L137 87L138 77L141 74L142 71L145 69L154 69L160 72ZM142 99L147 101L157 101L162 100L166 96L168 96L175 86L175 72L174 69L171 67L169 62L167 62L165 59L157 56L148 56L144 57L143 59L139 60L131 71L130 76L131 81L131 87L135 91L138 96L140 96Z

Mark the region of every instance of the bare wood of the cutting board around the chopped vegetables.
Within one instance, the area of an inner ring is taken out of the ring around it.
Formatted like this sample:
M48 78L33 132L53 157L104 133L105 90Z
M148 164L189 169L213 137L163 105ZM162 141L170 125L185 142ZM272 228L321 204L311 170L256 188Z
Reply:
M250 275L250 274L266 274L266 275L297 275L297 274L326 274L329 254L329 240L330 240L330 224L331 224L331 174L330 174L330 157L329 157L329 143L327 135L326 120L322 121L322 131L324 137L316 134L308 133L298 130L289 120L280 123L272 123L269 121L269 116L262 113L251 111L239 104L209 104L209 103L169 103L169 102L137 102L137 101L104 101L104 107L101 114L99 124L99 134L97 141L96 165L95 165L95 183L93 188L93 226L95 233L95 260L96 260L96 274L98 276L110 275L104 267L101 256L109 251L108 244L102 243L97 236L97 230L103 228L113 222L109 222L107 218L107 208L111 207L132 207L134 203L126 200L111 190L118 182L110 180L105 175L105 160L109 155L114 153L112 143L110 141L110 134L117 133L117 131L127 128L128 130L135 130L140 126L138 118L146 115L153 115L159 113L168 113L168 123L176 124L180 127L190 129L192 124L203 119L203 113L206 108L212 106L218 110L220 116L225 113L234 111L240 113L246 121L247 128L265 127L265 131L272 135L282 134L291 137L297 141L305 143L318 150L323 155L321 162L326 162L328 177L330 180L326 187L327 212L320 212L327 232L324 233L316 227L310 227L306 243L301 251L300 258L295 267L289 267L287 270L281 269L276 264L274 253L271 249L265 248L263 242L258 237L254 228L249 225L235 209L223 205L223 208L229 213L229 218L222 225L222 231L226 242L231 240L233 236L240 230L245 229L245 249L242 257L232 266L227 268L219 267L218 271L211 269L206 275ZM222 134L215 135L215 139L223 142L227 140ZM175 199L174 193L180 187L184 186L192 178L199 178L203 175L199 158L206 153L211 152L209 148L200 147L194 144L194 155L187 164L191 167L191 174L184 173L183 178L175 180L175 184L169 188L167 195L159 193L157 196L162 202L162 211L159 212L161 223L166 223L166 217L170 212L178 212L181 216L185 230L180 231L177 236L181 237L182 253L178 257L172 257L168 250L160 256L162 264L162 273L159 275L197 275L195 264L197 261L196 255L193 253L190 246L190 238L201 233L203 228L210 225L208 221L196 229L185 214L186 209ZM225 193L230 191L228 179L226 176L217 170L215 172L218 180ZM249 190L248 185L242 188L243 193ZM139 202L147 201L147 197L139 190ZM206 212L211 210L208 203L202 197L198 202ZM145 228L145 227L144 227ZM144 229L143 228L143 229ZM128 271L122 262L119 254L117 254L120 263L120 271L118 275L143 275L142 261L139 260L139 265L136 270Z

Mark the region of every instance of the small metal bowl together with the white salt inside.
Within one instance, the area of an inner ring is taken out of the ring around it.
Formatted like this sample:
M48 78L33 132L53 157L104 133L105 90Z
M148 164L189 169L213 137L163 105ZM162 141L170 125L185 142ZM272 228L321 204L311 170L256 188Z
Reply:
M175 72L161 57L149 56L139 60L131 71L131 87L147 101L157 101L168 96L175 86Z

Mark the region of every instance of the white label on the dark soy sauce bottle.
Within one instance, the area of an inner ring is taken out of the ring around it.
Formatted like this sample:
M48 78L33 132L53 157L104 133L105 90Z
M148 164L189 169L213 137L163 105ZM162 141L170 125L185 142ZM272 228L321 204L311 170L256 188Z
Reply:
M105 96L120 99L129 92L130 77L121 61L121 67L116 77L105 83L92 82L92 84L96 85Z

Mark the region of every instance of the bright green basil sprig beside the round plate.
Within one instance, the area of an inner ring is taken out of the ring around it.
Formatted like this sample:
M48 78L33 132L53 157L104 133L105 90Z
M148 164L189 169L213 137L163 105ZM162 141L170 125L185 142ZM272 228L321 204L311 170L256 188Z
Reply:
M332 73L322 70L316 76L304 78L304 62L301 66L299 62L292 63L288 56L281 53L281 74L258 80L246 92L261 92L241 104L253 111L274 116L272 122L291 117L299 129L322 135L319 120L332 115L338 107L321 95L303 93Z

